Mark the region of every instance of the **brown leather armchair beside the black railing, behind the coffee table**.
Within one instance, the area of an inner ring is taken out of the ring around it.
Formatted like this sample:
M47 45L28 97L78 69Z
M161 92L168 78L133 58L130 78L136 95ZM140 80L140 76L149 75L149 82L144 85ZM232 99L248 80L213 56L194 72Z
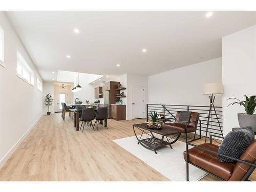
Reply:
M181 133L185 133L186 134L185 139L187 142L187 133L195 132L195 135L194 135L194 140L195 140L196 132L197 132L197 125L198 125L198 121L199 121L200 138L198 138L198 139L201 139L201 121L199 120L199 113L191 112L189 122L185 123L185 124L179 123L179 118L180 118L180 111L177 112L174 123L165 123L165 125L168 125L170 128L178 130Z

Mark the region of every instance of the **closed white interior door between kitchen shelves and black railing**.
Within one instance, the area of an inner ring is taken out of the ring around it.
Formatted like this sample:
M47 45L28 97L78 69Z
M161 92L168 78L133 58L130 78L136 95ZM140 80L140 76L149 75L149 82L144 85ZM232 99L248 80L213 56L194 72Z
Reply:
M145 113L145 88L132 86L132 118L143 118Z

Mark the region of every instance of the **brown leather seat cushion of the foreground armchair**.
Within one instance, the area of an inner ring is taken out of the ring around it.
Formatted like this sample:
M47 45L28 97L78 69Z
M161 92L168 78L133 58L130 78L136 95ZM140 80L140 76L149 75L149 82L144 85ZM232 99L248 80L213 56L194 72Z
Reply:
M199 146L215 152L218 152L219 150L219 146L215 144L203 143ZM183 155L186 160L186 151ZM234 168L234 163L220 162L216 154L201 150L197 147L193 147L188 150L188 161L226 181L232 175Z

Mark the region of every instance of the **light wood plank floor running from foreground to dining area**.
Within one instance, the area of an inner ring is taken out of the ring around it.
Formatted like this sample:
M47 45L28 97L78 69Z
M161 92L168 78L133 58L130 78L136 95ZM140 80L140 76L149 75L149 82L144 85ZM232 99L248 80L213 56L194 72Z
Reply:
M86 127L82 133L69 117L63 122L60 113L42 116L0 170L0 181L169 181L112 141L133 136L132 124L140 122L108 120L109 130ZM250 179L256 180L255 172Z

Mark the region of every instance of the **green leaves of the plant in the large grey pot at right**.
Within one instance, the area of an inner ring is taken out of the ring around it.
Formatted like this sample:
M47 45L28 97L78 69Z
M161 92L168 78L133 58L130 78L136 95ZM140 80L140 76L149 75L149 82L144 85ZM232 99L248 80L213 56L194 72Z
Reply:
M245 112L248 114L248 115L252 115L255 111L255 107L256 107L256 95L252 95L250 97L244 95L246 100L245 101L241 101L237 98L228 98L228 99L236 99L237 101L235 102L232 102L230 103L229 105L233 105L233 104L239 104L239 105L243 105L244 106L244 109L245 109ZM228 105L228 106L229 106Z

